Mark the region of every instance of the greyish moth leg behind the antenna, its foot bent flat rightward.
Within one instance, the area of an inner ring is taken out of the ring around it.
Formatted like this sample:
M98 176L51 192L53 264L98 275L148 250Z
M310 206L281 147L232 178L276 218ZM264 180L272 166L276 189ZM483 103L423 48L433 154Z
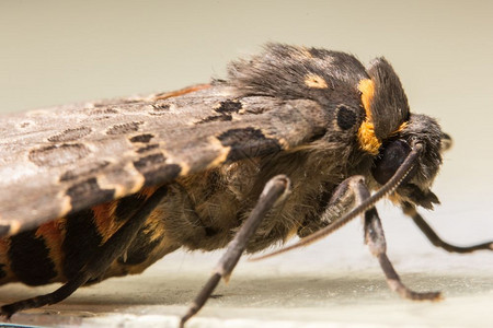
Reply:
M363 183L363 178L354 185L356 199L358 202L370 197L370 192L366 185ZM438 301L440 298L439 292L414 292L406 288L399 274L393 269L392 263L387 257L387 243L381 226L380 218L378 216L377 209L370 208L365 212L365 243L368 245L371 255L374 255L379 263L383 273L386 274L387 284L389 288L397 292L403 298L410 298L415 301Z

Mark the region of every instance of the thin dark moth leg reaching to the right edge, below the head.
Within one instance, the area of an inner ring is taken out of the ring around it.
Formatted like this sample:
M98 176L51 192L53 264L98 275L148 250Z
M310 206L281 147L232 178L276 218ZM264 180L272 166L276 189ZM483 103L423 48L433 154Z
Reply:
M414 223L420 227L420 230L424 233L424 235L428 238L428 241L435 245L436 247L442 247L450 253L471 253L480 249L489 249L493 250L493 242L488 242L483 244L472 245L472 246L455 246L444 242L426 223L426 221L421 216L421 214L416 211L416 208L411 203L404 203L402 206L403 212L413 219Z

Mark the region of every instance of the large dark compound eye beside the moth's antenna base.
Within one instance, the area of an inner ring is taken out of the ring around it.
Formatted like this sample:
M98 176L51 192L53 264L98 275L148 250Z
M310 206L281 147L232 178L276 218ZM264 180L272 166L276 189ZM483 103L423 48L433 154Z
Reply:
M377 183L385 185L402 165L410 152L411 147L403 140L394 140L383 144L371 169Z

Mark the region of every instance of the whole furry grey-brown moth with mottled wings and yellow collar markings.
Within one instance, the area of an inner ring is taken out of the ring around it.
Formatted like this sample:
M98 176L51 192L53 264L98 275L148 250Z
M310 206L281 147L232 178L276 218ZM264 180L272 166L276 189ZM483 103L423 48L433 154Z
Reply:
M385 58L365 68L348 54L284 44L209 84L4 116L0 283L62 285L1 314L139 273L182 247L227 247L183 326L243 251L299 236L285 251L358 215L390 289L438 300L401 282L375 204L390 198L449 251L493 249L443 242L416 210L438 203L431 186L450 144L435 119L411 113Z

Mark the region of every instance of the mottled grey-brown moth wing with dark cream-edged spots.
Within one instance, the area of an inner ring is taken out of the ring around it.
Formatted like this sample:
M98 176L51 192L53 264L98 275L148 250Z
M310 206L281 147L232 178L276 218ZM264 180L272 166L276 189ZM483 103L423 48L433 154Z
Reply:
M225 85L68 105L0 122L0 235L323 132L312 101Z

